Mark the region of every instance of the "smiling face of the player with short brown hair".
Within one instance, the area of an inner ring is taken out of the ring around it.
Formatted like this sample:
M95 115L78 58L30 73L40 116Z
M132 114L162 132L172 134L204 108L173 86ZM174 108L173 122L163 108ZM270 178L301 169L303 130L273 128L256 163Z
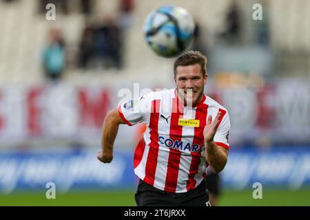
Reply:
M204 85L207 83L207 74L203 76L198 63L189 66L176 67L176 89L181 99L187 105L196 105L203 99Z

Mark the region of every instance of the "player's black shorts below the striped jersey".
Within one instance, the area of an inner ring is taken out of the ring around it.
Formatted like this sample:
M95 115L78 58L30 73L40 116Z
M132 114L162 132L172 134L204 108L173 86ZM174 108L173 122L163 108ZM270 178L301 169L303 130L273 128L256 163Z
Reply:
M140 179L136 194L137 206L209 206L205 181L188 192L165 192Z

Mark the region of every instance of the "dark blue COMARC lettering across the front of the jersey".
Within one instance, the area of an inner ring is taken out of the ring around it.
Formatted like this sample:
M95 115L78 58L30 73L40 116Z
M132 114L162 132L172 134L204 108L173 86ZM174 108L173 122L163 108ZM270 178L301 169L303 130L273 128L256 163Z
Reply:
M191 151L191 152L196 152L196 153L201 153L204 150L204 145L200 146L199 144L190 144L189 142L185 143L183 141L178 141L178 140L172 140L171 138L165 139L163 136L158 137L158 141L167 146L168 148L176 149L179 151Z

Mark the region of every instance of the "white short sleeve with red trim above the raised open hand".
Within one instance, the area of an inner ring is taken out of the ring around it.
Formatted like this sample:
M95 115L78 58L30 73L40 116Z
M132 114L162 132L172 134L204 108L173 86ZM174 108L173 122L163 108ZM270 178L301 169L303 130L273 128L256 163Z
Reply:
M220 109L222 111L222 119L220 120L220 125L218 126L218 131L214 135L214 142L218 146L223 146L229 149L228 137L230 129L230 120L227 111ZM224 114L224 115L223 115Z

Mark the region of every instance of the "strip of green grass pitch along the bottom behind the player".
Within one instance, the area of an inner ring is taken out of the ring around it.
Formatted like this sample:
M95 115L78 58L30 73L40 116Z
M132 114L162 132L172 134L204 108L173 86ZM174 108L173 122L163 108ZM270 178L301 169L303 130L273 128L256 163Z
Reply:
M262 199L253 199L252 190L225 190L220 206L310 206L310 188L297 191L264 189ZM45 192L14 192L0 195L0 206L136 206L134 190L56 192L46 199Z

